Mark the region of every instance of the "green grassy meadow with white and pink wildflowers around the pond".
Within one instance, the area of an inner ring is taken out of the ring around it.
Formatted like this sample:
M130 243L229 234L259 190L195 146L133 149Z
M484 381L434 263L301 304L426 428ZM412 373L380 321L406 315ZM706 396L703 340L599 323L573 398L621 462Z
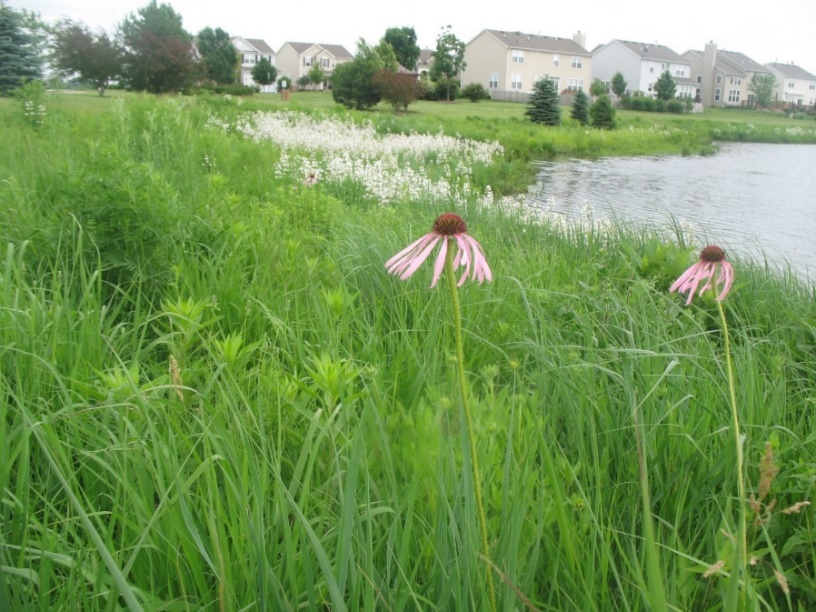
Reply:
M0 100L0 610L816 608L813 287L430 112Z

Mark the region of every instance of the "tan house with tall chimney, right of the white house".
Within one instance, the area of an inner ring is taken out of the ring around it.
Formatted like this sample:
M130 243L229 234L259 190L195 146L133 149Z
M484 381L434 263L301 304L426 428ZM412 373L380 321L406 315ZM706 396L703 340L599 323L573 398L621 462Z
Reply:
M755 74L771 72L743 53L717 49L713 41L703 51L686 51L683 57L691 62L694 97L703 106L753 104L751 80Z

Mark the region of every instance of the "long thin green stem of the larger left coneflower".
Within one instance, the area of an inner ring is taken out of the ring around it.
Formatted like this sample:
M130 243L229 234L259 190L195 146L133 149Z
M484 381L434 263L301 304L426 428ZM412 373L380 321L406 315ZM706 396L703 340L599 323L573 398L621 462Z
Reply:
M451 240L447 238L447 240ZM462 407L465 411L465 423L467 425L468 441L470 442L470 465L473 468L473 487L476 495L476 510L479 513L479 527L482 535L482 548L484 549L487 563L487 587L490 593L490 608L496 612L496 590L493 587L493 570L490 564L490 547L487 543L487 521L485 519L484 506L482 506L482 481L479 476L479 460L476 455L476 436L473 433L473 418L470 414L470 404L468 404L467 390L465 388L465 350L462 345L462 313L459 309L459 290L456 287L456 278L453 270L453 252L455 249L448 246L445 257L445 267L448 277L448 287L451 291L451 303L453 304L453 328L456 337L456 365L459 371L459 389L462 396Z

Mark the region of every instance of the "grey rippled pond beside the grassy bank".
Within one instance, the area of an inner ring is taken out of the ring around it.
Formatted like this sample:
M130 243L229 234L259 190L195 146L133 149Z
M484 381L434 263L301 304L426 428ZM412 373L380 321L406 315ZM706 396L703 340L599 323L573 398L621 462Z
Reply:
M816 145L725 144L710 157L542 162L527 204L693 228L741 258L816 279Z

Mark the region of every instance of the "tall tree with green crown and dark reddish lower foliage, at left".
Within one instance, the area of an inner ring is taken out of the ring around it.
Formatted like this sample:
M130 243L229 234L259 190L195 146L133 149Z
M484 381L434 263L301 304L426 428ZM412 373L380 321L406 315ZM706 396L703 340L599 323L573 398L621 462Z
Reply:
M125 47L124 77L138 91L163 93L186 89L199 75L193 37L169 4L150 4L119 26Z

